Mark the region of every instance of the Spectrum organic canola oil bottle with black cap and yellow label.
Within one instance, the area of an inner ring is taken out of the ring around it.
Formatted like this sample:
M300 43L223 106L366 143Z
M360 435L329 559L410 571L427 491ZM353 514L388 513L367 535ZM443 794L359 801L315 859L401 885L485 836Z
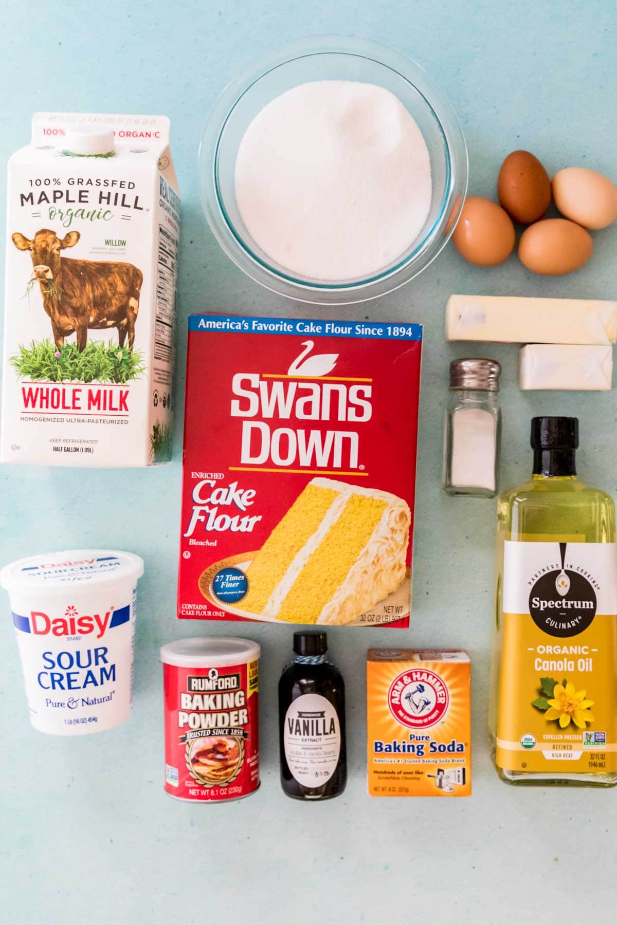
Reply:
M498 502L490 727L508 783L617 783L615 506L576 475L578 420L535 417Z

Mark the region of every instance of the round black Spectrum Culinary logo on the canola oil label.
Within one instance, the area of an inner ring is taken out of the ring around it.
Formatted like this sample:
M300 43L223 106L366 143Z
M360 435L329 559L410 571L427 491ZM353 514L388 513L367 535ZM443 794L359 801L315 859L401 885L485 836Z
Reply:
M575 550L577 543L572 543ZM566 568L567 543L560 543L561 570L545 572L535 582L529 595L529 613L537 627L553 636L582 633L596 616L598 598L591 581L584 574Z

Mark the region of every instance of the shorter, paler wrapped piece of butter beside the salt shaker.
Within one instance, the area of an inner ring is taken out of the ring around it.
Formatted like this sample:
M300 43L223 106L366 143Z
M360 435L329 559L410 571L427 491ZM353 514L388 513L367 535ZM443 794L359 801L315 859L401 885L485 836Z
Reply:
M567 388L608 391L612 347L573 344L528 344L521 349L521 388Z

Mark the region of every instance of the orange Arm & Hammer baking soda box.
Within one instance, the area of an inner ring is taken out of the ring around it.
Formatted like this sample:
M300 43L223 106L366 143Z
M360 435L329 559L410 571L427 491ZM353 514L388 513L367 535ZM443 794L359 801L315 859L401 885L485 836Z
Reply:
M368 650L369 796L471 796L471 663L460 649Z

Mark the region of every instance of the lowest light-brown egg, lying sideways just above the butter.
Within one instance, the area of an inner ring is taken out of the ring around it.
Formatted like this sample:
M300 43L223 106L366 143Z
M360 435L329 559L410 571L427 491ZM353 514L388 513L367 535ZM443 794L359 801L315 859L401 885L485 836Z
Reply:
M518 255L532 273L561 277L585 264L593 249L594 242L585 228L566 218L545 218L524 229Z

